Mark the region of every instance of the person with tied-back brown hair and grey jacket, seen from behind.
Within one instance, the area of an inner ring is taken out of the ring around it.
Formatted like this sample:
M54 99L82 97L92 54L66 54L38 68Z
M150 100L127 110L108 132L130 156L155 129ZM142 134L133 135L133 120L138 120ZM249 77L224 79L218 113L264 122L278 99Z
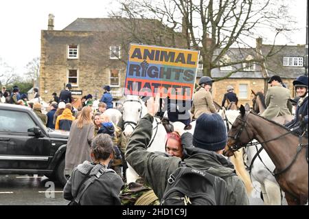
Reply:
M72 200L87 172L89 178L104 172L85 190L80 198L80 205L121 205L119 193L124 184L122 178L113 170L106 172L108 163L113 159L113 141L106 134L97 135L91 143L91 159L74 168L72 176L63 189L63 197ZM80 188L82 191L83 186Z

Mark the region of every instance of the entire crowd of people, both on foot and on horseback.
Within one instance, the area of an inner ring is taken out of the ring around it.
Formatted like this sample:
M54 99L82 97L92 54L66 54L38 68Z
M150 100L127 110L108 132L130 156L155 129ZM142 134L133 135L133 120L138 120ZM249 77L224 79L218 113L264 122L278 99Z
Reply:
M120 205L119 194L125 183L121 167L125 158L144 182L152 187L159 200L165 192L168 176L181 165L185 165L224 179L228 191L226 205L249 205L244 183L236 175L233 164L222 155L227 143L227 129L220 115L216 113L211 95L213 83L214 80L206 76L199 80L199 87L190 103L190 113L180 113L179 106L168 103L169 119L179 122L180 125L174 126L174 131L166 136L164 154L146 150L152 136L153 119L160 109L158 96L148 99L148 114L140 119L126 142L125 154L119 150L123 143L121 126L113 124L111 118L104 113L106 109L113 108L109 86L103 87L104 94L96 111L91 107L91 94L82 97L82 108L76 109L72 106L71 84L67 84L59 97L56 93L52 94L53 100L46 115L41 111L40 102L27 102L27 96L20 95L17 87L14 87L12 95L8 95L3 87L1 102L5 100L10 104L30 106L48 128L69 131L65 155L65 175L69 181L64 189L64 198L67 200L79 197L81 205ZM290 101L290 91L283 86L282 78L273 76L268 80L268 84L270 87L266 91L265 99L267 108L262 117L272 119L279 115L290 115L293 102ZM304 136L308 138L308 76L296 78L293 85L298 96L295 119L285 126L300 127L295 128L297 135L305 133ZM222 106L226 106L225 102L228 105L238 105L238 97L233 90L231 85L227 87ZM34 89L34 95L35 98L40 98L38 89ZM179 119L177 113L188 116ZM192 119L196 120L193 135L185 130ZM113 171L109 171L110 169ZM80 185L90 180L92 184L85 184L89 187L84 191L84 195L78 196L79 189L82 189Z

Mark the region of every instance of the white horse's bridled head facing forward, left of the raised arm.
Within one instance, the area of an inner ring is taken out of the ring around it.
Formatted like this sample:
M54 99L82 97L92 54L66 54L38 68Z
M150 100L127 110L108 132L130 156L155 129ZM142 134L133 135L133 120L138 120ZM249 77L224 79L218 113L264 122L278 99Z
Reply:
M122 106L122 118L124 119L124 135L130 136L139 122L148 112L145 103L135 95L126 95Z

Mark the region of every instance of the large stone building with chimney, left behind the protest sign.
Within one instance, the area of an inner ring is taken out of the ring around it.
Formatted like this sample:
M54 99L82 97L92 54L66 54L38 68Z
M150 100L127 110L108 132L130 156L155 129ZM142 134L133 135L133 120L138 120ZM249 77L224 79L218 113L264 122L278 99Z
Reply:
M121 98L129 43L142 43L132 37L129 22L132 21L119 18L76 19L63 30L54 30L54 16L49 14L48 30L41 31L40 89L43 100L51 100L52 93L59 94L67 83L72 84L75 97L91 93L100 100L102 87L110 85L113 97ZM179 37L181 33L172 33L176 34L176 44L169 41L167 38L171 35L166 32L170 30L157 20L137 19L136 22L145 38L151 35L154 40L145 41L145 44L159 45L163 37L165 46L184 45Z

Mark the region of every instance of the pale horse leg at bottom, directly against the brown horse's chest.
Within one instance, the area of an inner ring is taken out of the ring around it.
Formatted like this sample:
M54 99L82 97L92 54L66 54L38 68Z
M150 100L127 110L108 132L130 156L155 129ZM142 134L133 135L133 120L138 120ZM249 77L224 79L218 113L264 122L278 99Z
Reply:
M265 179L264 189L267 196L268 205L281 205L281 191L277 183Z

